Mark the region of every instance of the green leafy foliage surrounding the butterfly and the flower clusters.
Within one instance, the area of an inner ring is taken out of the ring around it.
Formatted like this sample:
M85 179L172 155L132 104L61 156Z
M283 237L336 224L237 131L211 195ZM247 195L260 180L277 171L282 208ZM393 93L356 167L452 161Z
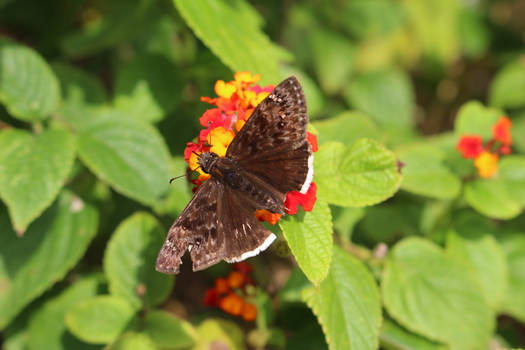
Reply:
M0 0L1 347L525 346L523 8ZM253 324L201 303L227 264L154 271L199 97L246 70L299 78L320 145L315 209L250 260ZM455 145L502 115L480 179Z

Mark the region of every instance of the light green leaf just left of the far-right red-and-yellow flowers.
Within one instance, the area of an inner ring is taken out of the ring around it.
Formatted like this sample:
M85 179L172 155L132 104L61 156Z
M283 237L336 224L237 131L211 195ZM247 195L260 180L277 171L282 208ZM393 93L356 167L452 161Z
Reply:
M401 188L422 196L453 199L459 195L461 181L443 165L445 153L430 144L411 144L396 152L405 165Z

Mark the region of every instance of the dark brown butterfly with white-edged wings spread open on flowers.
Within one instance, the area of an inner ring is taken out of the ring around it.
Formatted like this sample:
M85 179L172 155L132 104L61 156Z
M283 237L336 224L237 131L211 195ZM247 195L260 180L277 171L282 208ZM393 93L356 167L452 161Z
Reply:
M281 82L255 109L229 145L226 156L204 152L201 169L211 175L171 226L156 269L179 272L190 251L193 270L220 260L257 255L275 235L255 210L284 214L286 193L306 193L313 178L313 154L306 140L308 115L295 77Z

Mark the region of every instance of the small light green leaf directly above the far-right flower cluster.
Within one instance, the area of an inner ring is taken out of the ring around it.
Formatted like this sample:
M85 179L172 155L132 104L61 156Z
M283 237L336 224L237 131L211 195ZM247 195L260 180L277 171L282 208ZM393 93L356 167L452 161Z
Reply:
M504 113L496 108L488 108L478 101L465 103L458 111L454 131L459 138L463 135L480 135L484 140L492 138L492 126Z

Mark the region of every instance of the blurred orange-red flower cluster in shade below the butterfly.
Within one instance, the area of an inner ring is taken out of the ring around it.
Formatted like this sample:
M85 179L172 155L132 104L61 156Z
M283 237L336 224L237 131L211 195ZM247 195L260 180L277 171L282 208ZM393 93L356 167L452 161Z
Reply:
M206 290L202 302L206 306L219 307L230 315L241 316L245 321L254 321L257 306L247 301L253 296L246 290L247 285L254 285L250 277L252 267L240 262L234 264L233 269L228 277L215 280L215 286Z

